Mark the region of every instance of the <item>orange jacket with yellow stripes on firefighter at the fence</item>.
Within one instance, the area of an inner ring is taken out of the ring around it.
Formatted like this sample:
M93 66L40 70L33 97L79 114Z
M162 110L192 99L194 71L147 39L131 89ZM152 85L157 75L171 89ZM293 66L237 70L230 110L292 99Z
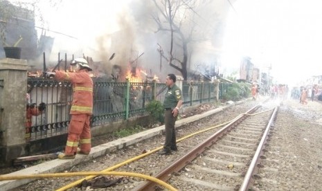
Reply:
M93 113L93 80L86 70L83 69L76 73L56 71L55 78L57 80L69 80L73 84L71 114L91 115Z

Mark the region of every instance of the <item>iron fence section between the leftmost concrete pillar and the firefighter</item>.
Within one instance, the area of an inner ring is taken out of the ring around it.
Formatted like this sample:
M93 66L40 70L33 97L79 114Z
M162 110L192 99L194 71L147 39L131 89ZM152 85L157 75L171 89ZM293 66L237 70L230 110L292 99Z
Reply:
M28 103L46 104L39 116L33 116L31 140L65 134L69 125L69 110L73 90L69 82L52 79L28 79Z

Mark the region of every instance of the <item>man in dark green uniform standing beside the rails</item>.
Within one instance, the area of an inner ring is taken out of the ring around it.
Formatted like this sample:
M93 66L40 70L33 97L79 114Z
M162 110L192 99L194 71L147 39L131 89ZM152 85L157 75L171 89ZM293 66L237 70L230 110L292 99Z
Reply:
M175 132L175 121L177 120L179 114L179 108L182 104L182 93L181 89L177 87L175 82L177 77L170 73L166 78L166 85L168 91L163 101L164 112L164 122L166 127L166 142L163 145L163 151L160 154L171 154L171 150L177 151L177 139Z

